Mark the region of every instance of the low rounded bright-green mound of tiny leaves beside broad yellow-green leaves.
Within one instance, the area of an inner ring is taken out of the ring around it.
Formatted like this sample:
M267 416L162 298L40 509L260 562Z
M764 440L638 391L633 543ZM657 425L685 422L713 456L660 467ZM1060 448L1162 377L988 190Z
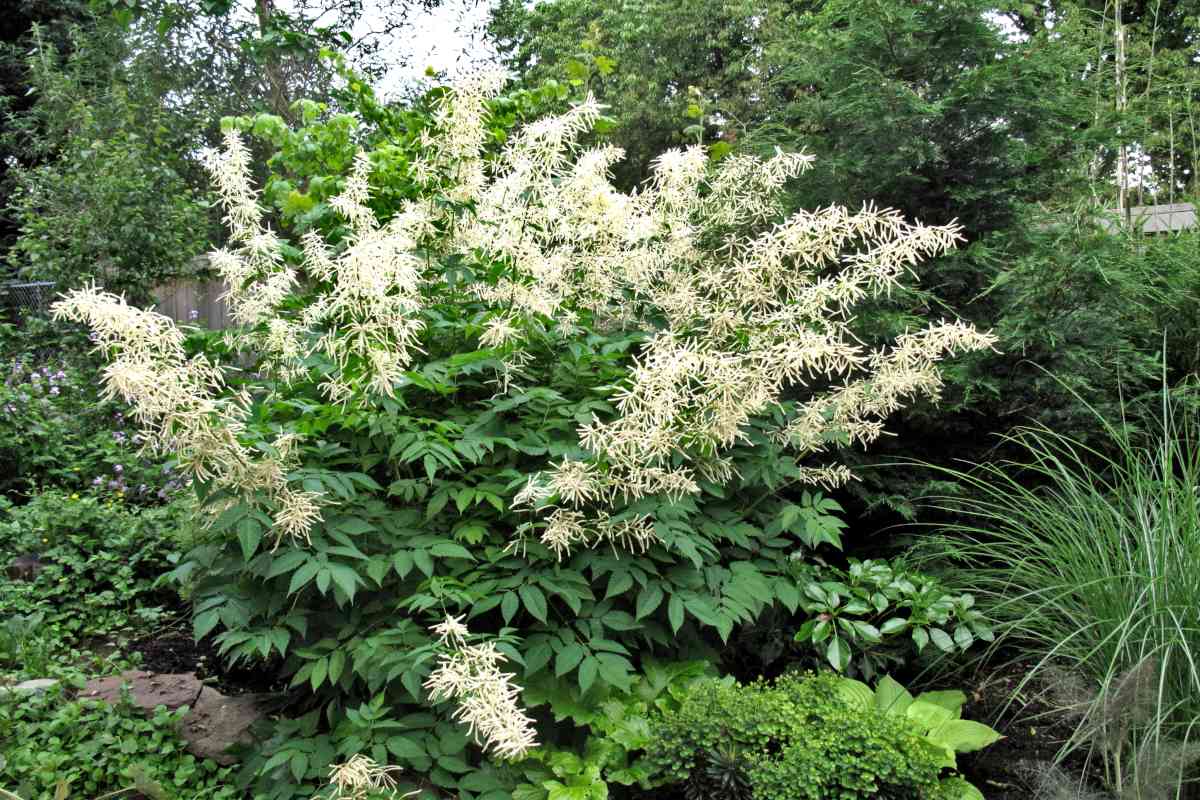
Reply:
M647 760L689 798L953 798L942 748L846 702L832 673L697 684L652 730Z

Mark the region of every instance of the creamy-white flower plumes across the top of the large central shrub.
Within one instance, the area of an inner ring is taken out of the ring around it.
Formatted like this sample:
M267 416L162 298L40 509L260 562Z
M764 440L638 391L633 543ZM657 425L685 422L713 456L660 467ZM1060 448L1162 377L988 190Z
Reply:
M938 396L944 357L994 344L961 323L911 331L884 348L850 329L857 303L953 248L955 225L912 224L868 205L800 211L764 230L779 215L780 191L811 163L804 154L734 155L714 167L703 148L671 150L643 187L618 191L608 173L622 151L580 145L602 112L592 97L515 132L486 160L487 107L503 83L481 73L448 91L422 133L425 157L412 167L470 212L420 200L380 224L368 206L372 163L360 155L331 200L348 237L335 252L319 235L304 236L302 277L314 291L299 309L286 301L301 271L264 224L248 151L227 132L224 150L205 154L230 230L212 263L229 284L233 318L246 326L233 343L259 353L263 371L284 381L319 380L340 404L370 404L402 384L421 354L427 306L442 300L433 273L440 257L504 267L494 282L467 287L492 308L478 345L499 353L498 392L523 379L534 331L566 338L587 320L588 330L649 333L611 397L618 414L582 425L586 452L532 476L515 498L514 507L534 513L522 530L539 530L559 559L576 547L648 547L653 519L629 516L623 504L733 480L731 450L755 419L788 409L774 435L798 459L834 439L870 444L889 414ZM118 353L109 391L136 404L160 446L178 449L198 475L265 489L277 534L307 535L322 498L290 489L286 469L241 444L247 401L223 396L216 366L182 357L169 320L140 317L97 290L73 293L58 313L89 321ZM336 368L313 374L313 354ZM791 389L827 381L830 389L784 403ZM852 479L842 465L805 464L799 475L824 487Z

